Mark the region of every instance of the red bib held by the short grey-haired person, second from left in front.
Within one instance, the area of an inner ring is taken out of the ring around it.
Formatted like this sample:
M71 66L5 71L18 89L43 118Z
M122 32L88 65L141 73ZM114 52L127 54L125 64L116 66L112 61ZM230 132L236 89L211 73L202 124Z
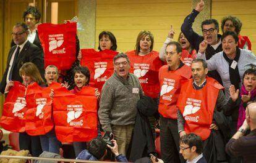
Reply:
M49 87L40 87L36 82L28 85L26 92L27 113L25 130L28 135L45 135L54 127L52 100L49 98L51 89L57 89L61 84L53 82Z

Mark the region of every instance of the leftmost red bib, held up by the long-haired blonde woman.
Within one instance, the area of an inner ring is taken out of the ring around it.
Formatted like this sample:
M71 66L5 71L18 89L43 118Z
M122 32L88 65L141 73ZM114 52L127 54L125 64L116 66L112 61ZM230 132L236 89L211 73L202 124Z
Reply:
M25 113L27 105L25 100L25 85L14 81L2 109L0 124L2 128L11 132L25 131Z

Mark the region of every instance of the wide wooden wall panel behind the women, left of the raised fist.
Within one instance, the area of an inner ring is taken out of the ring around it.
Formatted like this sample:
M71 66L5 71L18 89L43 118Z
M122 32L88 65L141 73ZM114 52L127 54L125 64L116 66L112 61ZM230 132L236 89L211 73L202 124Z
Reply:
M155 37L154 50L160 50L168 35L170 25L181 31L181 24L191 12L191 1L96 1L96 38L103 30L113 32L117 39L117 50L134 49L137 35L149 30ZM95 49L98 47L96 39Z

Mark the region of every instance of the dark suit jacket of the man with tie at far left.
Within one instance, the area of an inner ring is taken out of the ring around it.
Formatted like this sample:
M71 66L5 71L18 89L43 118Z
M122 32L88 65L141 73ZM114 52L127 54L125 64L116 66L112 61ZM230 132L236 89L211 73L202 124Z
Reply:
M14 50L16 49L17 46L11 47L9 51L9 55L7 58L7 65L6 65L6 70L4 71L4 76L2 77L2 81L0 84L0 92L4 93L4 89L6 88L6 78L7 78L7 73L9 70L9 64L11 61L12 54L14 53ZM26 62L32 62L35 63L37 68L40 71L41 76L43 77L45 74L45 59L43 56L43 51L35 46L35 44L30 43L27 41L27 43L24 45L23 49L21 50L19 57L17 58L18 62L17 65L14 67L14 71L12 74L12 81L19 81L22 82L22 78L19 75L19 70L20 67L26 63Z

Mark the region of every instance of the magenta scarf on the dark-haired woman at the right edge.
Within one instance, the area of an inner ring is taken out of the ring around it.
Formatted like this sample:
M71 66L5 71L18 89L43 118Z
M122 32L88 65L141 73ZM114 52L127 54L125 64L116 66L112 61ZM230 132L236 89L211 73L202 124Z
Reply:
M249 92L247 90L245 90L244 85L242 85L242 89L240 92L241 97L242 97L242 95L248 95L248 93ZM256 97L256 89L254 89L250 92L250 99L254 99L255 97ZM241 101L241 104L238 109L237 130L244 123L244 119L245 119L245 108L244 108L244 102Z

